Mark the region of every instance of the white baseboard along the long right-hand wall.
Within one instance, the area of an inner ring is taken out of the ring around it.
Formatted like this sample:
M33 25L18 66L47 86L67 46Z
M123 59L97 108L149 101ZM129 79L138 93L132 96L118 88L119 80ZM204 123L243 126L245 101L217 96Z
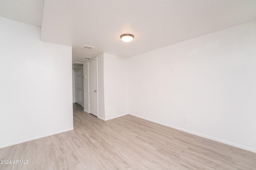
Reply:
M194 132L194 131L189 131L187 129L183 129L183 128L180 128L180 127L172 126L172 125L169 125L169 124L166 124L166 123L162 123L162 122L159 122L159 121L154 121L152 119L148 119L146 117L138 116L138 115L135 115L135 114L132 114L132 113L129 113L129 115L132 115L132 116L135 116L135 117L139 117L141 119L144 119L144 120L147 120L147 121L151 121L151 122L154 122L154 123L157 123L157 124L160 124L160 125L171 127L173 129L177 129L177 130L180 130L180 131L183 131L183 132L186 132L186 133L190 133L192 135L196 135L196 136L199 136L199 137L210 139L212 141L217 141L217 142L220 142L220 143L224 143L224 144L230 145L232 147L237 147L237 148L240 148L240 149L244 149L244 150L248 150L250 152L255 152L256 153L256 149L250 148L250 147L246 147L244 145L240 145L240 144L237 144L237 143L232 143L232 142L229 142L229 141L225 141L225 140L222 140L222 139L218 139L218 138L211 137L211 136L208 136L208 135L204 135L204 134L201 134L201 133L197 133L197 132Z

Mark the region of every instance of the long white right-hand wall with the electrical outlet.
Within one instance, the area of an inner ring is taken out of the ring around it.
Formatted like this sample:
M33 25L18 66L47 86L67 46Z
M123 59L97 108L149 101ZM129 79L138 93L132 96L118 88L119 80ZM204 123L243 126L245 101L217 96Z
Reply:
M128 66L132 115L256 152L256 21L130 57Z

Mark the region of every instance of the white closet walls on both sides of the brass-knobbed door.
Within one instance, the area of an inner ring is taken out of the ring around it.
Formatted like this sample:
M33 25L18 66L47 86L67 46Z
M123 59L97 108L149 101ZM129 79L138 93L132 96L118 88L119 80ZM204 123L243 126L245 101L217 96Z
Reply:
M98 118L114 119L128 114L127 109L127 58L110 54L97 56ZM84 63L84 111L89 110L88 62Z

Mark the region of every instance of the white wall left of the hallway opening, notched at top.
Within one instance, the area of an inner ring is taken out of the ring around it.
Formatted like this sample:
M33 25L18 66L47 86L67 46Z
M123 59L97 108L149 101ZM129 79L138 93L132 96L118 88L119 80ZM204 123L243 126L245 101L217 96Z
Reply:
M73 129L72 48L0 17L0 148Z

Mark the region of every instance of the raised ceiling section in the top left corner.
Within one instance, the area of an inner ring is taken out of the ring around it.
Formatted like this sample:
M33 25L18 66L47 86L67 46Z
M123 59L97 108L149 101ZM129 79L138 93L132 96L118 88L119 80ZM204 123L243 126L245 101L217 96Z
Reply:
M0 0L0 16L41 27L44 0Z

